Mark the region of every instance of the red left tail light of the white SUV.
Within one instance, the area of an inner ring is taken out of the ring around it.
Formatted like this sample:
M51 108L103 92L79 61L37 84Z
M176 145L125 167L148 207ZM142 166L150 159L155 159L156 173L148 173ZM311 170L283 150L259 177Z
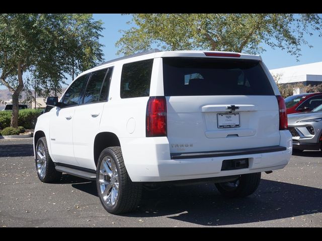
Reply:
M146 105L146 137L167 136L167 101L165 96L151 96Z

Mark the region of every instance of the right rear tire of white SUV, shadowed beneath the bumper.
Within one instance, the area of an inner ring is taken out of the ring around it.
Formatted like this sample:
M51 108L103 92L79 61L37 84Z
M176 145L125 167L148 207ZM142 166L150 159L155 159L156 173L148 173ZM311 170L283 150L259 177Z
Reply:
M243 174L233 182L215 183L225 197L246 197L253 194L261 181L261 173Z

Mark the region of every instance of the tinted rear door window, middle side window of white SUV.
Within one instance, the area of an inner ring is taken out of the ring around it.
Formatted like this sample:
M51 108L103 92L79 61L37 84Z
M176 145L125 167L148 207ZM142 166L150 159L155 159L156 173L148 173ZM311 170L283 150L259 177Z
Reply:
M102 69L92 73L91 79L86 87L83 103L99 101L102 84L108 69Z

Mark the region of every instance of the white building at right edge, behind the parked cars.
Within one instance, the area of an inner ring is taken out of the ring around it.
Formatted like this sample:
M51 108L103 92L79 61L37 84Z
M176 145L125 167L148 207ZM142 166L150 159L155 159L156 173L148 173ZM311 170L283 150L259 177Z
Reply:
M271 69L279 84L318 85L322 83L322 62Z

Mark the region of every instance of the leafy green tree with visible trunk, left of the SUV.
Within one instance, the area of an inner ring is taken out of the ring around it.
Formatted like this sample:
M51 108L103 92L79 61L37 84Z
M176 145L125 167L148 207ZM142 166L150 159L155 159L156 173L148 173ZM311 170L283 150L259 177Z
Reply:
M75 74L102 62L102 30L90 14L0 15L0 83L13 93L11 127L18 126L25 85L36 81L38 92L57 92L71 69Z

